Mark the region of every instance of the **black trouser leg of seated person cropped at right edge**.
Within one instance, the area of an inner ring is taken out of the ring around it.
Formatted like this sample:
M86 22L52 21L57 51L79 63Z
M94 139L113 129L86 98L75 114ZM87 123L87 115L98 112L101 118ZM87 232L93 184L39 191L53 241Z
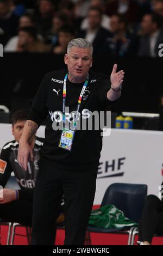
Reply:
M163 235L163 202L151 194L147 197L139 223L139 241L151 243L154 234Z

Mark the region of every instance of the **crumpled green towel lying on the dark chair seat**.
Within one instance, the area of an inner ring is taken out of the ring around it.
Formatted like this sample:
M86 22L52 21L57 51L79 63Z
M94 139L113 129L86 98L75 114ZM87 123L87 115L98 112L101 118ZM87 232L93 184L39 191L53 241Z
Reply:
M135 226L137 223L125 217L123 211L109 204L92 210L89 225L97 228L123 228Z

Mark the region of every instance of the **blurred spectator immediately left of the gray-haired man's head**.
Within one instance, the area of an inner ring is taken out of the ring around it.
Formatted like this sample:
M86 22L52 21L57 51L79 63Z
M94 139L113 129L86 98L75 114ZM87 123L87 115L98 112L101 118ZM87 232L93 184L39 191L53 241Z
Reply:
M67 45L72 39L74 39L74 31L69 26L64 26L59 29L58 42L59 45L55 46L53 53L64 54L67 52Z

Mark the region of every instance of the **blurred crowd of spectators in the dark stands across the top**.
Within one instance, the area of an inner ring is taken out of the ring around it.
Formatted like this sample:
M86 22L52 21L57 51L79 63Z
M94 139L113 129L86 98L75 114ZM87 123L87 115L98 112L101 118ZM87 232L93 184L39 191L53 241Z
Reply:
M64 54L73 38L93 54L158 57L163 0L0 0L4 52Z

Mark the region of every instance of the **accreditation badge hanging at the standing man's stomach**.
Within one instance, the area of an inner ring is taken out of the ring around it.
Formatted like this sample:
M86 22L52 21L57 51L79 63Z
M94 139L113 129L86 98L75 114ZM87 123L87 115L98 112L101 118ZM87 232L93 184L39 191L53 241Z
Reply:
M64 129L61 132L59 147L71 151L74 133L75 131L72 131L64 127Z

